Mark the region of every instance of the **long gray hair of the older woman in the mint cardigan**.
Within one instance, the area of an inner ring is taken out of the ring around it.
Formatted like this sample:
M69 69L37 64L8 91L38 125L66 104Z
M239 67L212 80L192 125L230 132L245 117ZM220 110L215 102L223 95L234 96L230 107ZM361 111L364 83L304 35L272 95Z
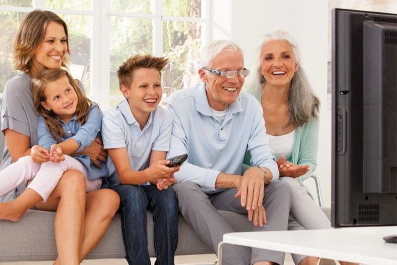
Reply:
M298 70L291 80L291 87L288 91L288 125L302 126L311 118L318 118L320 109L320 100L317 98L309 84L305 71L301 66L300 52L298 44L287 31L279 29L271 31L261 39L254 55L254 64L252 66L252 75L247 80L244 89L254 95L262 95L262 89L265 87L266 80L261 74L261 50L265 44L273 40L282 40L288 42L294 53L295 62Z

